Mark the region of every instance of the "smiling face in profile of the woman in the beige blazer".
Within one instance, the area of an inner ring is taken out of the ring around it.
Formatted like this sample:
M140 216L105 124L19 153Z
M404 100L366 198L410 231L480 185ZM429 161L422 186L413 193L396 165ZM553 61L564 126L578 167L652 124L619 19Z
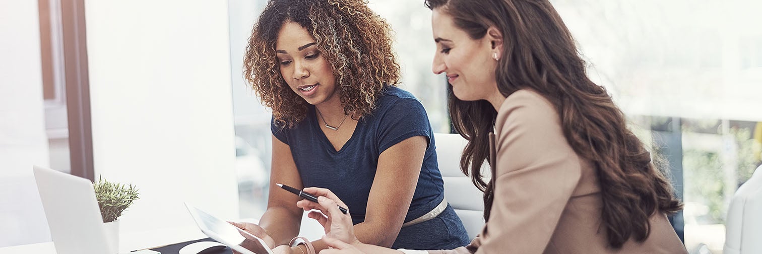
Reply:
M465 31L456 27L453 17L434 8L431 27L437 52L434 53L432 71L445 72L447 82L453 85L453 93L463 101L488 99L498 92L493 58L495 50L488 35L472 40ZM498 92L499 93L499 92Z

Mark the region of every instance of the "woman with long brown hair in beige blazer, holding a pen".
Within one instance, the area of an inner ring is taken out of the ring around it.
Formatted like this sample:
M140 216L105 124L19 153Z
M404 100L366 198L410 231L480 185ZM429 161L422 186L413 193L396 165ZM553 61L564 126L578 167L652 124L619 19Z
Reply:
M426 5L433 71L452 85L453 125L469 140L460 167L484 191L487 222L469 246L434 253L686 252L667 218L681 209L668 179L606 89L588 79L547 0ZM485 160L490 179L479 172ZM330 191L306 191L328 197L297 203L328 214L319 220L337 249L323 253L391 252L342 227L346 217L331 205L344 203Z

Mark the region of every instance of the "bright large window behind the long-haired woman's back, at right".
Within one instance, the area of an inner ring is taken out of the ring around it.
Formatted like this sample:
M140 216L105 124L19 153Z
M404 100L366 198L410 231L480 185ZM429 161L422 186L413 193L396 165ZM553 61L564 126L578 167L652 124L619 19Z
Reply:
M671 169L687 249L722 253L728 203L760 164L762 3L551 2L591 78Z

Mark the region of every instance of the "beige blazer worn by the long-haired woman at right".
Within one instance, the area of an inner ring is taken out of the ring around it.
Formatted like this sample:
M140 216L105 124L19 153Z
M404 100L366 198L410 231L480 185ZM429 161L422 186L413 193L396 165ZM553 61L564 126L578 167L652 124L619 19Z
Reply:
M607 248L596 169L571 149L559 121L536 92L505 99L495 122L491 217L469 246L431 253L687 253L664 214L651 217L644 242Z

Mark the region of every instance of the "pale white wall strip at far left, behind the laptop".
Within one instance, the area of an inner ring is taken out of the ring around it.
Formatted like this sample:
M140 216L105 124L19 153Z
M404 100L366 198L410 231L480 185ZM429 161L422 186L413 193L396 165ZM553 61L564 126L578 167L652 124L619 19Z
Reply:
M37 1L0 2L0 247L50 241L32 165L48 165Z

